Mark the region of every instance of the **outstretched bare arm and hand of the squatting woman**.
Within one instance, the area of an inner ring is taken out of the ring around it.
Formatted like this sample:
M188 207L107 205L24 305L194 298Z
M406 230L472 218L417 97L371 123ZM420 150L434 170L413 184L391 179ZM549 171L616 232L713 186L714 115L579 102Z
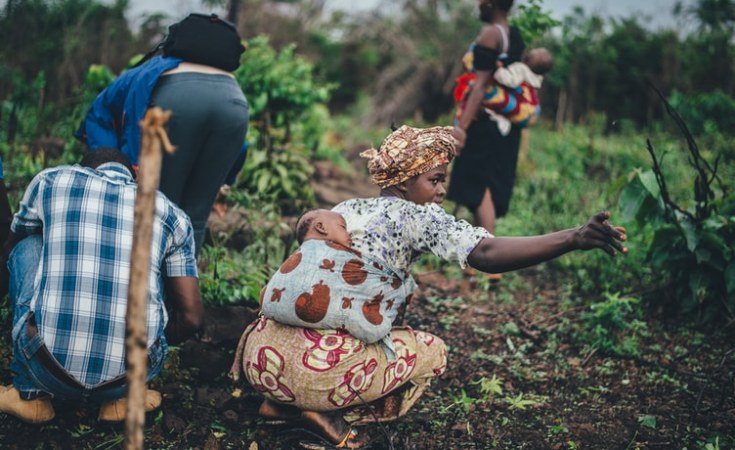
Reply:
M625 228L611 225L609 218L609 212L601 212L579 228L541 236L485 238L467 261L477 270L501 273L548 261L573 250L599 248L611 256L616 252L627 253L628 249L621 243L627 239Z

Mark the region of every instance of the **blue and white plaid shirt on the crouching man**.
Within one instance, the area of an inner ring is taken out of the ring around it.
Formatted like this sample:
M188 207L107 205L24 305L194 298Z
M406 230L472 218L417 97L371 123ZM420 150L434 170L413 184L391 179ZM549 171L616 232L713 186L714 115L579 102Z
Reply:
M86 387L125 372L125 314L136 184L106 163L47 169L31 181L13 220L22 236L43 234L30 310L56 360ZM148 290L148 346L168 321L163 277L196 277L188 216L156 198Z

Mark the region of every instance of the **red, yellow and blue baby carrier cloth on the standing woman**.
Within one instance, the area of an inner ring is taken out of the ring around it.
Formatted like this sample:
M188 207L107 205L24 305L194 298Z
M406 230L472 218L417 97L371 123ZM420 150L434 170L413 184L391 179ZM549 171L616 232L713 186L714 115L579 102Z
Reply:
M498 60L503 61L508 57L509 41L508 36L500 25L496 25L503 37L503 52L498 55ZM475 43L470 45L469 50L462 58L462 64L467 71L465 74L457 78L457 86L454 91L454 99L459 103L455 123L459 122L462 112L465 109L467 98L471 89L469 89L475 80L474 66L474 48ZM515 88L502 86L498 83L489 85L482 99L482 106L490 111L500 114L514 125L523 128L536 122L541 107L539 106L536 89L527 83L522 83Z

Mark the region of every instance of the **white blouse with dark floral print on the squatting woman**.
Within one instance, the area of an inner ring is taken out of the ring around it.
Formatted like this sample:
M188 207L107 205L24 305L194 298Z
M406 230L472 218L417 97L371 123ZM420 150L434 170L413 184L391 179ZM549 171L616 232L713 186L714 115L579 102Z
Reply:
M493 237L435 203L374 197L344 201L333 211L345 218L354 249L405 271L422 253L456 261L464 268L480 240Z

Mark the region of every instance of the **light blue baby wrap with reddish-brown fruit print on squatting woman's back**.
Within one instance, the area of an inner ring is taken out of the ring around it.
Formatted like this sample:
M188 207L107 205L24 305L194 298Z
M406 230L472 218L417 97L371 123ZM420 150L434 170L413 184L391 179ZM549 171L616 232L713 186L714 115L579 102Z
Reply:
M371 344L389 335L415 286L408 273L382 261L308 240L261 292L261 311L286 325L345 330Z

